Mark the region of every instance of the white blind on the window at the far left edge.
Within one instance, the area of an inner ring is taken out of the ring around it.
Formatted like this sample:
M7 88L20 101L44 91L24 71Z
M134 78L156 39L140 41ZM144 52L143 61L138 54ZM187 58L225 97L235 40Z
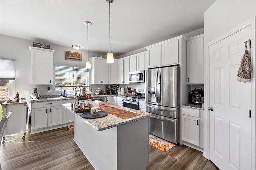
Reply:
M15 60L0 59L0 80L15 80L15 72Z

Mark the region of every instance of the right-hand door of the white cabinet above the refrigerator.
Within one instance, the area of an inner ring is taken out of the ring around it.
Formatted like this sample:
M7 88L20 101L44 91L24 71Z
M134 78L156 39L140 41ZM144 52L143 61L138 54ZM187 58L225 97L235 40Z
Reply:
M179 63L179 40L170 41L161 45L161 65L171 65Z

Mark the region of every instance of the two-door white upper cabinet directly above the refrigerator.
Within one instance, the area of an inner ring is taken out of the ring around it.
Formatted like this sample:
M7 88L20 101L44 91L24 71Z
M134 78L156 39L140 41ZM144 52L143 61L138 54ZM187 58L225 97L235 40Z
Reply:
M181 51L182 39L187 40L186 37L180 35L145 47L147 49L147 68L180 64L181 55L179 51Z

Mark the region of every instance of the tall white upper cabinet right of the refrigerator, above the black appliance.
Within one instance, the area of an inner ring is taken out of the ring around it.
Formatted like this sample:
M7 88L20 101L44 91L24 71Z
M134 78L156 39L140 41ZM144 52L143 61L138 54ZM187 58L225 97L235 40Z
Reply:
M204 35L187 41L187 84L204 84Z

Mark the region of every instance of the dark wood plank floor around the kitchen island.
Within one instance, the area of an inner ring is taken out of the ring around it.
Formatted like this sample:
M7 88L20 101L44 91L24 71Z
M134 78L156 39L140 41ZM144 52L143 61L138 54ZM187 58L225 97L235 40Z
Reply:
M9 137L0 148L2 170L94 170L73 141L68 127L52 131ZM167 152L150 145L147 170L218 170L202 152L176 145Z

